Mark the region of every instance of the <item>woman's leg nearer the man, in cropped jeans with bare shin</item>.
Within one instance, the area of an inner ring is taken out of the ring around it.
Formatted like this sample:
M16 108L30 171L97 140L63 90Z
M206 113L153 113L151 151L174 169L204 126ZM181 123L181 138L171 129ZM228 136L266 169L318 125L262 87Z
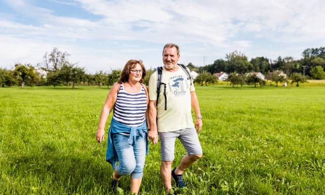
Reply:
M146 134L142 133L142 138L137 135L137 143L133 146L134 156L136 160L136 168L131 173L131 193L138 194L143 176L143 168L146 159L147 138Z

